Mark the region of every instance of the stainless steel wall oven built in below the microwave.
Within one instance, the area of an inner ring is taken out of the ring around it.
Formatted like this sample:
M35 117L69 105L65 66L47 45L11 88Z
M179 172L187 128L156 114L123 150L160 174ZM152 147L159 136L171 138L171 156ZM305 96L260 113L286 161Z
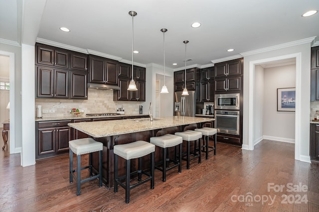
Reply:
M239 111L215 110L217 132L239 135Z

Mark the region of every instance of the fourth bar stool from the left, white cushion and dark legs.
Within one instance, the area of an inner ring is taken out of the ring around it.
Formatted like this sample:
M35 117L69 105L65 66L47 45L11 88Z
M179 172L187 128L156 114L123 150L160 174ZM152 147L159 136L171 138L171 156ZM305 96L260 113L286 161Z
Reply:
M202 137L201 132L192 131L192 130L186 130L184 132L176 132L176 136L180 136L183 138L183 141L187 141L187 152L186 152L186 159L182 157L182 159L186 160L186 169L189 169L189 161L192 159L195 159L198 157L198 163L201 162L201 153L200 153L200 139ZM199 140L199 146L196 148L196 141ZM194 152L190 152L190 141L194 141ZM198 153L196 152L198 150ZM189 157L190 153L192 153L194 156Z

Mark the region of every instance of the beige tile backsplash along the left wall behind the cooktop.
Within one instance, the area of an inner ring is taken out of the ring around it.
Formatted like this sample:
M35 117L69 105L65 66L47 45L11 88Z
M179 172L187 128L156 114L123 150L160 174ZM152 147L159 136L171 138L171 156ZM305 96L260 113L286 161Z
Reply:
M84 113L116 113L124 108L126 114L139 114L141 102L113 101L113 90L88 89L88 99L35 99L35 108L42 105L42 117L70 116L71 108L80 108ZM54 110L54 113L43 113Z

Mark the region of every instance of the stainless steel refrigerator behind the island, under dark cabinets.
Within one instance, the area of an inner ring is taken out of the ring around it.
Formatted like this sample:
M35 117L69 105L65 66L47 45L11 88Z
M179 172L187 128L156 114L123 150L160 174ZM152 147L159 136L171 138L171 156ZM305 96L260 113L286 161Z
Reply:
M181 91L174 93L174 116L195 116L195 91L188 91L188 96L182 96Z

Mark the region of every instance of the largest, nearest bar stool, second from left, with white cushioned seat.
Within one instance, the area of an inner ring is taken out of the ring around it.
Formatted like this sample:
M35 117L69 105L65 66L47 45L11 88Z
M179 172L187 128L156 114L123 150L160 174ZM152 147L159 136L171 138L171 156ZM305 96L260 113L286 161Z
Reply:
M142 157L151 154L150 168L151 173L141 170ZM126 175L118 176L118 156L126 160ZM131 159L139 158L138 170L131 172ZM148 181L151 181L151 189L154 189L154 161L155 145L147 141L135 141L127 144L114 146L114 192L118 192L118 185L125 189L125 202L130 202L130 190ZM131 175L138 173L139 182L130 185ZM142 180L142 174L148 178ZM125 183L121 180L126 179Z

